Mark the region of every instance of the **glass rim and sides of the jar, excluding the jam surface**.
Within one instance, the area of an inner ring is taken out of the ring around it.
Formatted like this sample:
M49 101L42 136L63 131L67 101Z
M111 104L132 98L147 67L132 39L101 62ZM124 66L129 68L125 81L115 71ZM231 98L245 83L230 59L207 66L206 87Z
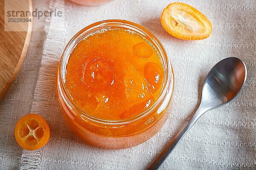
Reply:
M143 113L123 120L103 120L90 116L74 104L64 86L66 65L70 52L76 44L88 34L108 28L128 29L146 38L158 51L164 67L163 88L154 104ZM69 127L87 144L108 149L132 147L154 136L169 117L166 110L170 105L173 89L173 69L163 45L146 28L126 20L104 20L93 23L79 31L65 47L56 77L58 100Z

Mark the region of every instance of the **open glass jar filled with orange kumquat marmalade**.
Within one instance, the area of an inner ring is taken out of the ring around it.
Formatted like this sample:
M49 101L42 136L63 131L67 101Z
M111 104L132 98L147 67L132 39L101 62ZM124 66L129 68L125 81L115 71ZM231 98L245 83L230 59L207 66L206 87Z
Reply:
M56 91L69 127L87 144L121 149L154 136L169 113L172 65L150 31L104 20L79 31L59 62Z

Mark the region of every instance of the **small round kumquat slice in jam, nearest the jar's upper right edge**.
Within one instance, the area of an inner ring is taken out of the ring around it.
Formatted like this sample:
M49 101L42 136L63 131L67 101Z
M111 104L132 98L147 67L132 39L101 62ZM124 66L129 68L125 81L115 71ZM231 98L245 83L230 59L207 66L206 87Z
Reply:
M152 48L146 42L140 42L132 47L133 53L140 58L148 58L153 54Z

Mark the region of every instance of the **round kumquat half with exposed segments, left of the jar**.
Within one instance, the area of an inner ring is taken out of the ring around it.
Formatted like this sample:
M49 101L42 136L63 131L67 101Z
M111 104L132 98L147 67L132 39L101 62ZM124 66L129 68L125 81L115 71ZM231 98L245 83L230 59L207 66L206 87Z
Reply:
M14 134L20 147L26 150L36 150L49 141L50 128L43 117L29 113L18 120Z

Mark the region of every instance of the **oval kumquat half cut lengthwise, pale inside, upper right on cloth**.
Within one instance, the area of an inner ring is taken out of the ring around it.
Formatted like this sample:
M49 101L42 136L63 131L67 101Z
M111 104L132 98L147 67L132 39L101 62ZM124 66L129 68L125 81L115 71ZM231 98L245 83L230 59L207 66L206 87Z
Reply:
M171 3L161 15L163 28L183 40L202 40L211 34L212 24L200 11L185 3Z

